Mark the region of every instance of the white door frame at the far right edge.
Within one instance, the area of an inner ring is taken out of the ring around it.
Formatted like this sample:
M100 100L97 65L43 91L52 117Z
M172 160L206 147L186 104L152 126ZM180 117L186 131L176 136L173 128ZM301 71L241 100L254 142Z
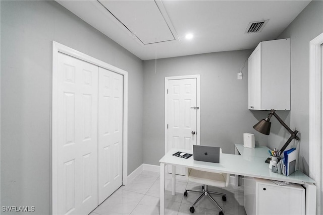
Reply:
M322 44L323 33L309 42L309 177L316 181L316 214L323 212Z

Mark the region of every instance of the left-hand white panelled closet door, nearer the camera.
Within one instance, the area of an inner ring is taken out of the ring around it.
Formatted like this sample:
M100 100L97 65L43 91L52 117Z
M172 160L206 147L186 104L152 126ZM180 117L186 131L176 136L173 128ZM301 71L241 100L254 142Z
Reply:
M88 214L97 206L98 67L58 54L58 210Z

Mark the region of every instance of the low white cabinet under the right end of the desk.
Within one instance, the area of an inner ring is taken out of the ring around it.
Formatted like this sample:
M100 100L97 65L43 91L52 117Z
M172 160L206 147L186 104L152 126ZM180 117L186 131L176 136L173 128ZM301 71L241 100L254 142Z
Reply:
M279 186L266 179L245 177L244 207L252 214L305 214L305 189L299 184Z

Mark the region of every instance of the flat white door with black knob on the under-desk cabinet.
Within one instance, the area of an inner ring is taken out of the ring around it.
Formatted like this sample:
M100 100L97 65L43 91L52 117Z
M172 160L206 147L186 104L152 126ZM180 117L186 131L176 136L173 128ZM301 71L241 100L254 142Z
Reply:
M257 214L305 214L305 190L299 186L258 184Z

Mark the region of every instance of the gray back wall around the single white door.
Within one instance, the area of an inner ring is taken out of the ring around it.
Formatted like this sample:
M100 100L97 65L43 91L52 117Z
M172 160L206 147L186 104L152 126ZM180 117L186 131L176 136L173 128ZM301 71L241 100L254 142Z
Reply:
M234 154L234 144L243 143L243 133L254 133L257 145L267 145L267 136L252 126L263 114L249 111L247 62L243 80L237 73L252 50L217 52L144 61L143 163L158 165L164 156L164 80L170 76L200 75L200 144L220 146Z

